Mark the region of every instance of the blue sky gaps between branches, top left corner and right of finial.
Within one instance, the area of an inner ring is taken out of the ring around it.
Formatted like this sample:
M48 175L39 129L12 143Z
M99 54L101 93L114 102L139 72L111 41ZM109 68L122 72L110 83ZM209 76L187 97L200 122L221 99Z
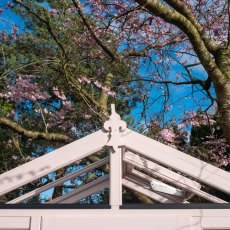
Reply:
M1 0L1 2L2 2L1 8L3 9L3 13L0 15L0 30L6 30L7 32L10 32L12 25L15 24L16 26L19 27L19 32L22 32L24 29L23 19L20 16L14 14L11 9L5 10L5 6L8 2L7 0ZM48 7L47 4L43 4L43 5ZM140 74L145 72L144 70L145 68L146 67L143 67L142 70L140 70ZM175 75L178 71L183 71L182 67L180 67L178 64L174 64L173 66L171 66L169 78L175 79ZM197 76L201 79L204 79L204 77L206 77L204 69L200 66L193 70L193 74L194 76ZM204 94L202 94L201 92L196 92L194 94L194 97L197 99L197 101L193 99L192 95L190 94L192 88L189 85L181 85L181 86L170 85L169 87L171 89L172 96L168 104L172 104L172 110L167 112L166 120L171 119L172 117L179 118L186 110L196 111L200 107L205 109L208 105L207 101L201 100L204 97ZM154 88L151 91L151 97L156 98L161 93L162 90L157 90L156 88ZM183 97L185 98L181 99ZM163 103L162 100L159 100L156 103L154 103L154 105L150 110L150 113L157 113L161 109L162 103ZM139 120L140 118L141 110L142 110L142 105L139 104L138 108L132 111L132 115L134 115L137 118L137 120Z

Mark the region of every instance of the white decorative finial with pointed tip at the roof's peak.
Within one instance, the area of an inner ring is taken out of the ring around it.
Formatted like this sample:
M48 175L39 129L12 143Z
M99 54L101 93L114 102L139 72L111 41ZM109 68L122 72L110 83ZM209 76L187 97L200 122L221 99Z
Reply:
M116 113L115 105L111 104L111 115L109 120L104 123L104 129L110 133L110 139L106 146L111 146L114 150L121 146L121 132L124 131L126 127L126 122L122 121L120 115Z

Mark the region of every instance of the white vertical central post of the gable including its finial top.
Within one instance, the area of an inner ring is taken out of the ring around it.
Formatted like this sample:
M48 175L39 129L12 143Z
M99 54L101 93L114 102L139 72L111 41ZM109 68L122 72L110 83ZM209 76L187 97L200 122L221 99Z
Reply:
M111 115L105 122L104 128L109 132L109 141L106 146L110 147L110 205L112 209L118 209L122 205L122 146L121 132L126 129L126 123L121 120L111 105Z

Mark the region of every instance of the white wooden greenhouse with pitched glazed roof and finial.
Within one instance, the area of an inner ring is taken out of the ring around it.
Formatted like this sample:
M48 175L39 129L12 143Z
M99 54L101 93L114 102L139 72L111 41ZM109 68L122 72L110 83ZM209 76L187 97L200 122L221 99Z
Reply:
M229 195L230 173L128 129L114 105L103 129L0 175L0 196L104 148L109 156L1 205L0 230L230 230L229 203L203 189ZM107 175L44 204L25 204L108 163ZM122 186L154 204L122 204ZM108 205L76 205L106 188ZM207 203L190 203L194 196Z

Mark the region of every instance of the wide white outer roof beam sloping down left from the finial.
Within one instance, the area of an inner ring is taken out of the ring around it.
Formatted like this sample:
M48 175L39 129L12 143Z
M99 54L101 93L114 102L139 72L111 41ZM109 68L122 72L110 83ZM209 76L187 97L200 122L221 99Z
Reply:
M99 130L0 175L0 196L101 150L108 133Z

